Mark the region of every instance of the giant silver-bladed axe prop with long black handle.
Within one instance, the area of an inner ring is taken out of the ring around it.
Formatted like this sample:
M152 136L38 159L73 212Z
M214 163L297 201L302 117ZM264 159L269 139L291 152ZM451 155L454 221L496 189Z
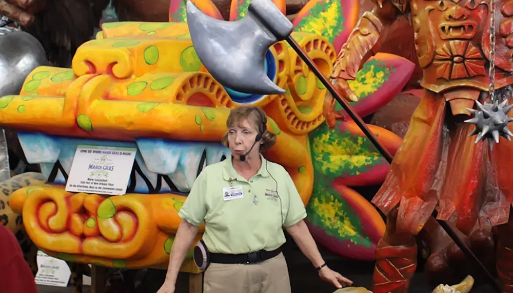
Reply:
M246 15L238 21L224 21L209 17L188 0L187 24L194 50L212 77L221 84L243 93L267 95L285 93L283 88L269 79L264 62L269 47L275 42L286 40L388 163L392 163L392 155L378 142L363 120L340 97L333 85L292 38L291 22L271 0L252 0ZM436 218L436 211L433 212L433 216ZM468 246L445 221L439 220L439 223L466 257L481 268L494 289L501 293L501 288L494 277Z

